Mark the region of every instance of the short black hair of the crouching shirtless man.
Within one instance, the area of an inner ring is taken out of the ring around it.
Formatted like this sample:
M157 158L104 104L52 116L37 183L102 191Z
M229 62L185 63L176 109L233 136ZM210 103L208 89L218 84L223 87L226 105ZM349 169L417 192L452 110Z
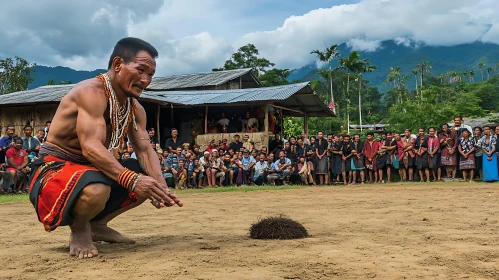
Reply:
M146 51L153 58L158 57L158 51L148 42L139 38L127 37L123 38L114 46L113 53L109 58L107 69L111 69L113 59L117 56L121 57L125 63L129 63L140 51Z

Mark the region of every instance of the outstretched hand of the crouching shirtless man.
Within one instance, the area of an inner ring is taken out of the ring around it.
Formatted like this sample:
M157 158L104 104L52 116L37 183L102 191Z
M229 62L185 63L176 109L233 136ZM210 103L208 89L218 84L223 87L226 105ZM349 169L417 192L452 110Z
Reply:
M134 191L140 198L151 199L151 203L156 208L173 206L175 204L180 207L184 205L176 194L149 176L141 175Z

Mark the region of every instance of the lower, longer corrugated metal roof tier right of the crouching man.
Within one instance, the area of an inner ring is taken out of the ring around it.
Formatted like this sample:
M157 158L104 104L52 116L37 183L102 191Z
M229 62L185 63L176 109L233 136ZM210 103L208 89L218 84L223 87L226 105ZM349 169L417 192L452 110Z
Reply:
M242 103L252 101L285 100L308 86L308 82L290 84L277 87L231 89L231 90L203 90L203 91L144 91L141 95L145 99L181 104L204 105Z

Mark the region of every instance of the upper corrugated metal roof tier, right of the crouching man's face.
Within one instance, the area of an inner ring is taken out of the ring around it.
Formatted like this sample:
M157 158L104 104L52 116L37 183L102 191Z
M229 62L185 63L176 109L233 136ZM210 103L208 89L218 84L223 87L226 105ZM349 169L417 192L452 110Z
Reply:
M153 78L147 89L169 90L218 86L251 73L251 68Z

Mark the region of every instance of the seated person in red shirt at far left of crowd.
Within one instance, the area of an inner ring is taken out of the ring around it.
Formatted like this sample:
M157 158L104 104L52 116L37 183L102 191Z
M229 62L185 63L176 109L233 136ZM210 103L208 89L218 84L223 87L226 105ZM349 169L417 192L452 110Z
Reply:
M17 193L25 193L26 181L28 179L28 154L22 149L23 140L14 138L14 145L7 150L5 157L7 159L7 171L10 172L14 182L14 191Z

